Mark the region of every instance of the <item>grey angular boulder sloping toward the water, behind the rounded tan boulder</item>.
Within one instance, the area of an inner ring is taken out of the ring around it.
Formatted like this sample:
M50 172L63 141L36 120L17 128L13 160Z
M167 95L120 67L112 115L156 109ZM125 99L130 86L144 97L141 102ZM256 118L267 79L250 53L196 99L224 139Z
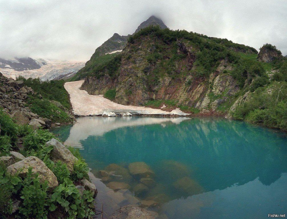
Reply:
M50 159L54 162L61 161L67 164L70 172L73 171L73 166L76 160L78 160L69 149L55 138L46 143L46 146L53 146L53 150L50 152Z

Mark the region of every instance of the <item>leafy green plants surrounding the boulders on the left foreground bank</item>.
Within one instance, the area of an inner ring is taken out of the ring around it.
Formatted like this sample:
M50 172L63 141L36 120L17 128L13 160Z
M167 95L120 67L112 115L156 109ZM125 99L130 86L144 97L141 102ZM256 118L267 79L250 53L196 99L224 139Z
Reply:
M41 183L32 169L28 170L26 177L18 175L11 176L6 173L6 166L0 163L0 217L10 218L12 213L13 199L22 199L19 218L92 218L93 197L90 191L83 194L76 189L78 181L89 179L87 164L80 157L79 151L69 148L78 158L74 170L70 173L66 164L52 162L49 154L51 147L45 143L55 136L47 130L33 129L28 126L20 126L13 123L13 120L2 110L0 111L0 156L9 155L9 151L18 150L16 142L18 138L23 139L24 148L19 152L24 156L37 156L56 175L59 186L49 190L47 182Z

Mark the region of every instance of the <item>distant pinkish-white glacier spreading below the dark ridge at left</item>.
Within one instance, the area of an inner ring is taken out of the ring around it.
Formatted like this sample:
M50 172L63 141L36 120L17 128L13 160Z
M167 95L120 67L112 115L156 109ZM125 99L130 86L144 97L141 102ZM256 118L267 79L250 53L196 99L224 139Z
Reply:
M0 66L0 72L2 72L4 75L7 75L8 77L13 77L14 79L21 75L25 78L39 77L41 80L47 81L53 79L61 79L61 77L63 77L62 75L69 76L74 74L85 65L84 62L76 61L57 61L31 58L29 58L29 60L33 60L31 63L36 63L38 67L26 69L22 68L22 70L19 70L20 68L18 68L18 70L15 70L15 68L12 68L11 65L9 65L10 67L6 65L5 68L3 68L2 65ZM27 67L28 65L25 66Z

